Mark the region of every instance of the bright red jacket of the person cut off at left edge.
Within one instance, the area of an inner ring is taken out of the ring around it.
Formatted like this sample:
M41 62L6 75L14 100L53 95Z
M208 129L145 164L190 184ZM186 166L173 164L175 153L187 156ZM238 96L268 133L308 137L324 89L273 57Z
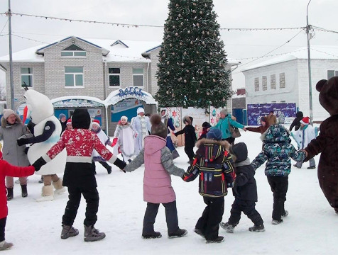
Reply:
M4 160L0 160L0 219L8 215L5 177L23 177L34 174L34 166L13 166Z

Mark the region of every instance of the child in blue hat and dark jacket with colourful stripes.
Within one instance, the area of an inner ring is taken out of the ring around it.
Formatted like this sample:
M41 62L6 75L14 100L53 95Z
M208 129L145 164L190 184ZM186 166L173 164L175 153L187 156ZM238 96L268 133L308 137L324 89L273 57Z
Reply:
M224 212L224 196L227 196L227 183L234 180L234 167L229 152L229 142L222 141L222 131L213 128L207 138L199 140L196 156L183 176L184 181L193 181L200 176L199 193L207 207L197 221L195 232L209 242L223 242L219 237L219 223Z

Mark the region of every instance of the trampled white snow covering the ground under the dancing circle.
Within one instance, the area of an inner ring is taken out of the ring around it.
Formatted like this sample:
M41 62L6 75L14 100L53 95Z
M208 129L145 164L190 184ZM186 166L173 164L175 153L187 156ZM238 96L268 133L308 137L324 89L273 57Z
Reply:
M249 158L260 152L260 134L243 132L236 142L246 142ZM187 169L187 156L183 147L175 163ZM319 157L315 158L316 163ZM292 162L294 164L294 162ZM198 194L198 183L185 183L173 176L173 188L177 196L180 227L187 229L187 237L168 239L163 206L156 218L155 228L163 234L160 239L141 239L143 214L142 179L143 166L124 174L113 166L113 172L97 164L97 183L100 194L98 221L95 227L107 234L100 242L83 241L85 202L82 199L75 227L77 237L60 239L61 217L67 195L56 196L52 202L37 203L42 184L40 176L30 176L28 198L21 198L20 186L14 188L14 199L9 202L6 241L14 246L6 254L337 254L338 215L329 206L317 181L317 170L295 169L289 176L289 189L285 208L288 217L280 225L271 225L273 196L264 176L264 166L256 171L258 184L257 210L261 213L266 232L249 232L253 225L244 215L234 234L223 229L221 244L205 244L205 240L193 232L197 219L205 208ZM234 198L229 191L225 197L223 220L227 221Z

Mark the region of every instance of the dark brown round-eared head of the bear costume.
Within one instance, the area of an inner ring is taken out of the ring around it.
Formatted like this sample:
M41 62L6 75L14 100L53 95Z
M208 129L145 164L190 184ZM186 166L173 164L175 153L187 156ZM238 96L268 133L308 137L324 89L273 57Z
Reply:
M330 115L338 114L338 77L329 80L322 79L316 84L320 92L320 104Z

